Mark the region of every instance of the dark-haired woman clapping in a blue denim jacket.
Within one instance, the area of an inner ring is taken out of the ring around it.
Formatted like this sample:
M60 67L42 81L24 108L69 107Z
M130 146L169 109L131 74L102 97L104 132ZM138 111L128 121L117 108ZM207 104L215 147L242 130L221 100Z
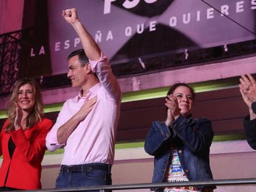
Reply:
M153 122L145 151L155 156L153 183L213 180L209 154L213 130L207 119L192 119L194 90L176 83L168 91L165 122ZM154 191L213 191L215 186L189 186Z

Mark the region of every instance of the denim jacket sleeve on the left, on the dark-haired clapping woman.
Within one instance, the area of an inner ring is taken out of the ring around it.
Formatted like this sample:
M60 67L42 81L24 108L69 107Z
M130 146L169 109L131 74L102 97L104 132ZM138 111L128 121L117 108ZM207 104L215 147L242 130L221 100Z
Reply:
M153 122L150 130L148 131L144 149L145 151L154 156L158 149L161 149L164 141L171 138L173 134L164 122Z

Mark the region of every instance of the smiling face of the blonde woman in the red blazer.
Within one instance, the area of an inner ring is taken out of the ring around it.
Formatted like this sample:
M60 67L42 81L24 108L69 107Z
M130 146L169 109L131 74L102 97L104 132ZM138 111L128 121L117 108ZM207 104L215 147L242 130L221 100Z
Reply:
M18 91L18 101L17 104L24 112L32 111L35 106L35 94L33 92L33 87L30 83L26 83L20 86Z

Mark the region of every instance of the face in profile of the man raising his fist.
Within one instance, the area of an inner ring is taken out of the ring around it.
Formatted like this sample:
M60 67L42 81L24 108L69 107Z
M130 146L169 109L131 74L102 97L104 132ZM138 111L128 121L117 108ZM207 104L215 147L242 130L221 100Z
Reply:
M69 72L67 77L70 78L72 87L82 87L87 82L86 65L83 67L79 61L79 56L69 59Z

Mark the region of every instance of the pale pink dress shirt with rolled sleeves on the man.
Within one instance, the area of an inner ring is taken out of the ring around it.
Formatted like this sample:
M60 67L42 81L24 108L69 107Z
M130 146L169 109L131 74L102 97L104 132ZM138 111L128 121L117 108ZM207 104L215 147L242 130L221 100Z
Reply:
M90 61L93 72L100 83L87 91L82 97L68 99L59 112L58 119L46 136L46 147L54 151L62 147L58 143L57 131L67 122L84 102L98 96L97 102L87 117L77 125L64 144L62 165L78 165L100 162L113 164L114 143L116 139L117 123L120 114L121 90L114 76L107 57L101 56L99 61Z

